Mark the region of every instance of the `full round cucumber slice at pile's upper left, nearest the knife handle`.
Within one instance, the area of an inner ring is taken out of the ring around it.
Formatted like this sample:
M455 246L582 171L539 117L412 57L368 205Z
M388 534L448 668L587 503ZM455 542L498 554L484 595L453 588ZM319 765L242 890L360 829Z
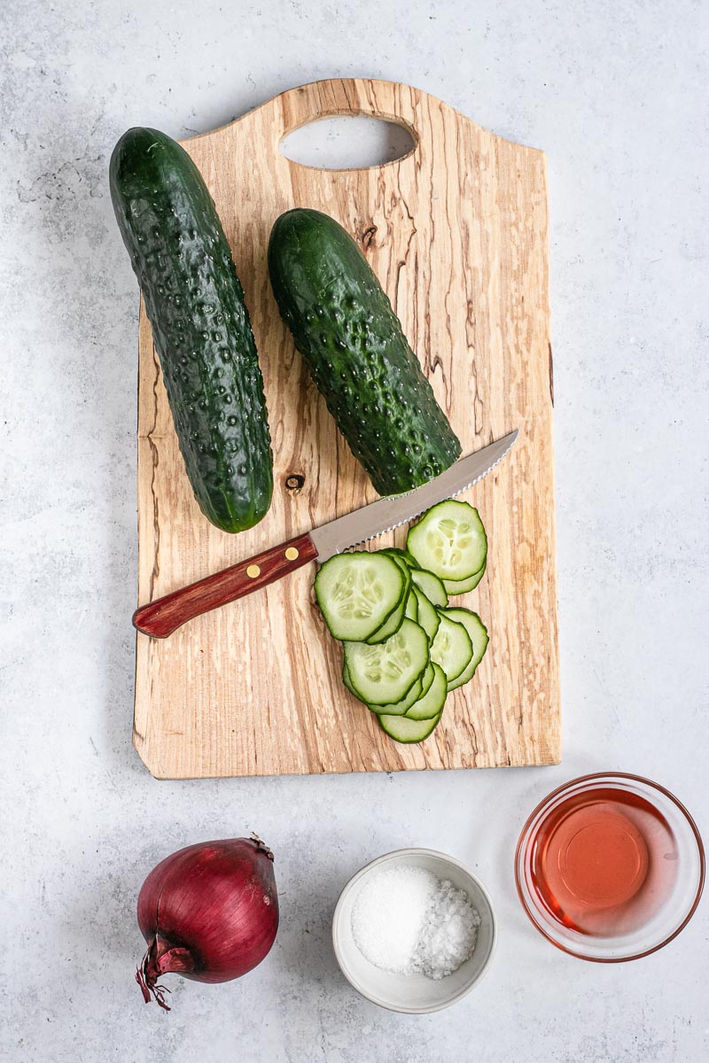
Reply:
M364 641L381 628L405 604L406 587L393 558L368 551L336 554L315 577L315 596L330 634L350 642Z

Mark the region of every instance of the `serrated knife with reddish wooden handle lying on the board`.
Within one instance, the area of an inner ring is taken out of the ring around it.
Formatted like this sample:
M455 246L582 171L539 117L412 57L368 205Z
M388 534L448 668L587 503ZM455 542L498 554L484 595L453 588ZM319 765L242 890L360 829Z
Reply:
M518 431L514 429L482 451L460 458L440 476L413 491L377 499L345 517L338 517L280 546L272 546L263 554L156 598L150 605L140 606L133 613L133 624L145 635L166 639L188 620L244 597L259 587L267 587L309 561L326 561L334 554L391 532L425 509L431 509L437 502L452 499L477 484L502 461L517 437Z

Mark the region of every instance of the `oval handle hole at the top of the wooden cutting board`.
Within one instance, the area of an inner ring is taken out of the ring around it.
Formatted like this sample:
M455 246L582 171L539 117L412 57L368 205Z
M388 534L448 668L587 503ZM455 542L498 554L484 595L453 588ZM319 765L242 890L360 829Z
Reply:
M367 115L318 118L286 133L281 154L317 170L365 170L412 155L415 134L399 122Z

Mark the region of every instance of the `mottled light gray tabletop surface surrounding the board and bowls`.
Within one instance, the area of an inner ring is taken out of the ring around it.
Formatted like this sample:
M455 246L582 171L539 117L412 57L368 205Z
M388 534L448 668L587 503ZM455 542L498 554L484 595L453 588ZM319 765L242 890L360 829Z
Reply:
M706 900L603 967L543 942L511 877L525 814L587 771L658 779L709 837L707 24L702 0L2 5L3 1060L707 1058ZM137 294L108 155L131 124L184 136L337 74L548 153L563 764L158 783L130 741ZM144 1007L144 875L252 828L276 855L272 955ZM361 1000L328 940L340 887L406 845L468 863L500 922L482 985L425 1017Z

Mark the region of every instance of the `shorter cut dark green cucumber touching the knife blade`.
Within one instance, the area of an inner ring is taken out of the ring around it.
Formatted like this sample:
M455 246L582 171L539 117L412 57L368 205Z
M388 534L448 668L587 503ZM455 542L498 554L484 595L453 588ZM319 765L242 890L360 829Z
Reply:
M369 263L333 218L281 215L268 248L281 316L352 453L379 494L410 491L460 457Z

